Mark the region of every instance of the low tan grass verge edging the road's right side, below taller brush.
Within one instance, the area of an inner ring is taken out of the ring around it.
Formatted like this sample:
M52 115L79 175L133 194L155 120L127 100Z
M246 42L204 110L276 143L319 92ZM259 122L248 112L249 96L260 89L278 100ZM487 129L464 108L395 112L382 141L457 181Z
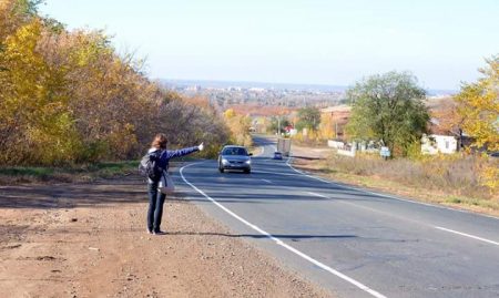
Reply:
M294 160L294 166L314 173L318 176L330 178L340 183L369 188L376 192L389 193L415 201L440 204L460 209L499 216L499 198L497 194L486 192L471 183L465 184L466 179L454 178L435 179L432 175L417 175L414 168L405 169L399 164L388 171L387 165L383 167L389 173L376 171L375 163L366 160L354 162L350 157L340 157L345 161L338 162L337 157L319 161ZM431 171L431 169L430 169ZM441 177L437 168L432 169L436 176ZM404 178L400 178L404 176ZM445 175L444 175L445 176ZM461 174L460 174L461 176ZM460 183L459 187L456 184Z

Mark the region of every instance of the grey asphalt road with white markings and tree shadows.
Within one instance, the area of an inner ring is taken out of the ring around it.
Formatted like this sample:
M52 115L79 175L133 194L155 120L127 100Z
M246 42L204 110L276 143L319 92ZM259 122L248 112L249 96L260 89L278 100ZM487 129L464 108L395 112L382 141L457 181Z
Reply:
M256 143L249 175L221 174L216 161L175 174L189 199L234 230L225 236L338 297L499 297L499 218L314 177Z

